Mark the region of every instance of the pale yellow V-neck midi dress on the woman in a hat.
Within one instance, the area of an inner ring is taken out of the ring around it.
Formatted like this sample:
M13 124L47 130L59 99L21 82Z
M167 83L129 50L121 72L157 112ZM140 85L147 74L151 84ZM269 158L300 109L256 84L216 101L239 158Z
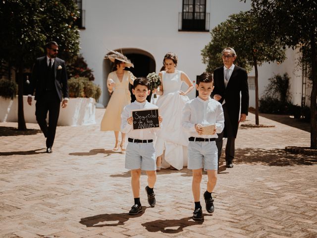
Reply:
M117 77L115 71L108 74L108 79L114 81L114 88L111 98L106 107L105 115L101 121L101 130L120 131L121 113L123 108L131 103L131 94L129 91L129 81L134 79L130 71L124 70L122 82Z

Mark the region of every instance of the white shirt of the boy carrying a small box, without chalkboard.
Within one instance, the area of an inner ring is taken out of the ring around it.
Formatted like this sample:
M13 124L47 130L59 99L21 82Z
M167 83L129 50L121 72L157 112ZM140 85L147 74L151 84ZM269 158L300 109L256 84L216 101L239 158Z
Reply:
M213 135L199 135L195 129L195 124L215 124L216 133ZM221 133L224 127L221 104L211 98L204 101L200 97L197 97L189 101L183 108L182 126L188 132L189 137L218 138L217 133Z

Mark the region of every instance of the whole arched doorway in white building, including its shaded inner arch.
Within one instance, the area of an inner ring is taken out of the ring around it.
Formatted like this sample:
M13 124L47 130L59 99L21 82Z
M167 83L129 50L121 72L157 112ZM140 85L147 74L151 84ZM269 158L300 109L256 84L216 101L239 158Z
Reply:
M115 51L122 52L131 62L134 64L132 68L126 68L133 73L136 77L146 77L149 73L155 72L156 70L156 62L154 57L146 51L136 48L126 48L126 49L116 49ZM108 73L111 71L112 62L110 60L104 60L104 105L106 106L109 101L109 94L106 86L106 80ZM131 93L131 101L135 100L135 96L132 94L132 85L129 86L129 90Z

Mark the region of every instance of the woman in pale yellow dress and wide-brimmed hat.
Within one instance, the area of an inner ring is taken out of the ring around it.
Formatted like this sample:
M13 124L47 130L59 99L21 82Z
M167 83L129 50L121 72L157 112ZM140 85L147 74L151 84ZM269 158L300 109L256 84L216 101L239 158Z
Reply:
M106 107L105 115L101 121L101 130L114 131L115 145L113 150L125 151L125 133L121 132L121 143L119 140L119 131L121 125L121 113L123 108L131 103L131 94L129 91L129 83L133 85L134 75L125 67L133 66L130 60L124 55L111 51L111 55L106 56L107 59L114 62L114 71L108 74L107 86L111 94L111 98ZM121 55L121 56L120 56Z

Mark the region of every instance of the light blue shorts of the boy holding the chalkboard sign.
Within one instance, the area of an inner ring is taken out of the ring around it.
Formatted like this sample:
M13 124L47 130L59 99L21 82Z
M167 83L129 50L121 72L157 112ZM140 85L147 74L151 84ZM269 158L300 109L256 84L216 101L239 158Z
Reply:
M128 142L125 152L125 168L128 170L156 171L156 156L153 142Z

